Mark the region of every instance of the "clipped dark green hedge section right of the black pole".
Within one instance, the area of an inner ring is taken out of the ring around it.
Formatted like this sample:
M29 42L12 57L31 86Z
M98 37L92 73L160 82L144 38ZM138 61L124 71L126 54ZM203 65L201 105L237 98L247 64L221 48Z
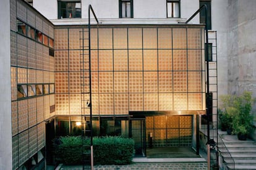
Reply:
M133 152L133 139L117 136L93 139L95 164L130 164Z

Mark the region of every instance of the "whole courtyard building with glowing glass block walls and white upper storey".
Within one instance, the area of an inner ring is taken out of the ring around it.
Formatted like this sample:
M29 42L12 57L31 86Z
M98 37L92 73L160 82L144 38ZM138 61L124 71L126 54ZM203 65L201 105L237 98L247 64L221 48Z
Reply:
M3 37L10 44L1 41L7 63L1 63L1 91L7 100L1 101L6 130L0 141L9 161L1 160L6 163L0 169L45 168L46 160L51 163L51 139L77 135L77 123L89 117L85 103L90 98L84 93L89 72L83 69L88 60L81 59L88 53L89 4L100 21L96 26L92 18L90 30L93 134L132 137L140 156L150 145L198 151L207 92L205 27L200 23L207 16L184 22L211 1L4 2L8 8L2 11L10 18L1 17L8 23ZM216 129L215 31L210 39Z

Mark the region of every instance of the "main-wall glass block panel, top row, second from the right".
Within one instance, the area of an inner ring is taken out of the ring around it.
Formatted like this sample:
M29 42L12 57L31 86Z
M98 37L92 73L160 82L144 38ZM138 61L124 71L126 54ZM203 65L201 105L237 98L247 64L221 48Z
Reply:
M173 49L186 49L186 28L173 28Z

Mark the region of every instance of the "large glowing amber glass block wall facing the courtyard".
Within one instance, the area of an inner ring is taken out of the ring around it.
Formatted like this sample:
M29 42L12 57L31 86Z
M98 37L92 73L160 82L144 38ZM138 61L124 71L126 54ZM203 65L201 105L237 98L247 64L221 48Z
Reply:
M55 29L56 115L81 113L79 31ZM203 39L200 26L92 28L92 114L205 110Z

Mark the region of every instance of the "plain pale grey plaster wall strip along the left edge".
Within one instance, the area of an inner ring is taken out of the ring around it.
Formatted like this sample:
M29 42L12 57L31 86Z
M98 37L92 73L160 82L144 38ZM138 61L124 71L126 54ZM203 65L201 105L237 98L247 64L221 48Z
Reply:
M0 5L0 169L12 169L10 1Z

